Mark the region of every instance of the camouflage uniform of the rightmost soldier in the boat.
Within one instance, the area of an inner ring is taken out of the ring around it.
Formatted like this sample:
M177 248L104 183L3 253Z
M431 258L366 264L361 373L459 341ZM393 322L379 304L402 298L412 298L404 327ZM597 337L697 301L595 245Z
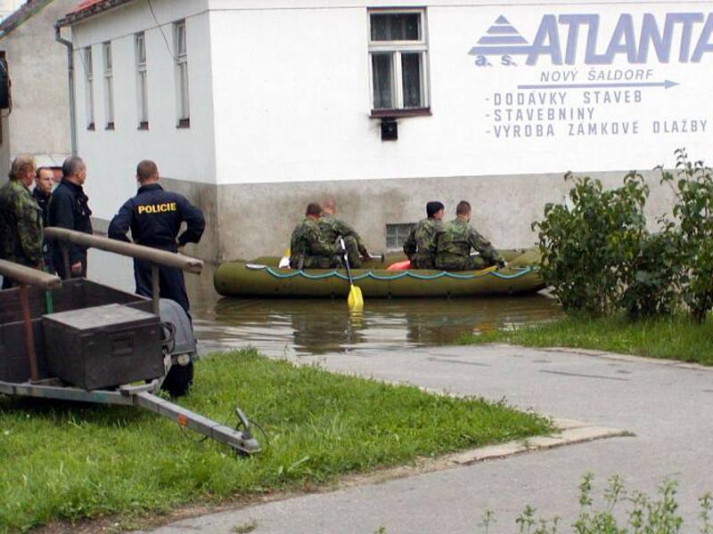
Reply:
M480 254L471 256L471 248ZM503 263L490 241L481 236L463 219L455 218L443 225L438 234L436 267L443 271L477 271Z

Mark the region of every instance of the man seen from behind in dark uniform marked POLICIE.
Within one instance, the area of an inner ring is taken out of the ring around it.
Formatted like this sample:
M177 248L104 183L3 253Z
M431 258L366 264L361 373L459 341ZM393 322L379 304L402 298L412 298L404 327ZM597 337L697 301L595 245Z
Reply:
M109 224L109 237L128 241L131 230L134 242L146 247L177 252L186 243L198 243L206 222L201 210L183 196L163 190L159 184L159 167L143 160L136 167L138 194L129 198ZM180 235L181 224L186 229ZM179 269L159 267L160 295L179 303L186 313L190 303L185 291L184 273ZM152 295L151 262L134 260L134 279L138 295Z

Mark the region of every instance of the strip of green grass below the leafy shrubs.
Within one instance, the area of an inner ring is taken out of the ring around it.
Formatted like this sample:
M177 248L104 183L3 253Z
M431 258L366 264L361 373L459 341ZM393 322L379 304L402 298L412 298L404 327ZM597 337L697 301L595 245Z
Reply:
M566 317L459 339L461 344L503 342L533 347L575 347L713 365L713 320L697 324L685 315L634 322L624 316Z

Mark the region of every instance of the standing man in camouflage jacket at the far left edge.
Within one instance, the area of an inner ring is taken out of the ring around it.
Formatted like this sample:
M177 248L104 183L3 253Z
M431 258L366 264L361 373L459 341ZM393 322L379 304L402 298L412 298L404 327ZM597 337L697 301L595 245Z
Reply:
M42 210L29 192L35 178L35 161L19 156L12 162L10 182L0 188L0 258L42 269ZM12 287L3 279L3 289Z

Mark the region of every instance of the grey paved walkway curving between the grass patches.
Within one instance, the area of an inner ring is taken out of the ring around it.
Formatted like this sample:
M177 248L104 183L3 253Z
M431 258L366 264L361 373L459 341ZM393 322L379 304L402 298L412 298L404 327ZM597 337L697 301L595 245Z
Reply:
M627 488L650 493L661 481L676 479L684 532L695 532L697 499L713 490L713 369L506 345L365 350L310 360L340 372L505 398L521 409L635 436L291 498L177 522L159 532L230 533L252 525L258 534L371 534L380 528L389 534L471 534L484 531L479 522L490 509L497 518L490 532L511 533L527 504L547 517L562 515L566 526L577 513L578 481L587 471L595 474L597 496L615 473Z

